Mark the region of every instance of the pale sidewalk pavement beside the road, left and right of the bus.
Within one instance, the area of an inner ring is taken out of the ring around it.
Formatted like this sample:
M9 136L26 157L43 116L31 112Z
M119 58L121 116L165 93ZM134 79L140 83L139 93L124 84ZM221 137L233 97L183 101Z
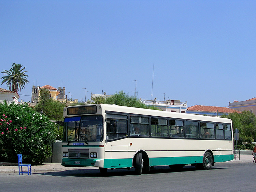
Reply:
M240 154L240 160L238 158L228 162L252 162L253 156L248 154ZM7 163L8 164L8 163ZM25 167L24 167L25 168ZM32 165L31 171L43 173L43 172L56 172L56 171L67 171L74 169L98 169L98 167L64 167L60 163L45 163L43 165ZM6 163L0 164L0 173L19 173L18 165L6 165Z

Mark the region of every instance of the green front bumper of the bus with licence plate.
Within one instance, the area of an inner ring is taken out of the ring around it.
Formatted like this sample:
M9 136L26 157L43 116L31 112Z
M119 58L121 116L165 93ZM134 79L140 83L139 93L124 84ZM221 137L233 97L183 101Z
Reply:
M62 158L61 165L65 167L103 167L104 159L70 159Z

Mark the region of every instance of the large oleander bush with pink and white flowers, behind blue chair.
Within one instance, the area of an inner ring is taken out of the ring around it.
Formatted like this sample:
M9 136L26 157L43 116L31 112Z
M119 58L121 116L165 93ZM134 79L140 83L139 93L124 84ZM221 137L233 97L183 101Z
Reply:
M27 105L0 103L0 162L42 164L52 155L56 124Z

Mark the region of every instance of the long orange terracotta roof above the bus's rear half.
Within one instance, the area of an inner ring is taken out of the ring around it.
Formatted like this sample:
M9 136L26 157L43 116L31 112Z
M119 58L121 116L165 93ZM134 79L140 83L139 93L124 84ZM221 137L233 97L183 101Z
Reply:
M214 106L204 106L204 105L194 105L192 107L188 107L189 111L204 111L204 112L216 112L218 109L219 113L242 113L238 110L230 109L228 107L214 107Z

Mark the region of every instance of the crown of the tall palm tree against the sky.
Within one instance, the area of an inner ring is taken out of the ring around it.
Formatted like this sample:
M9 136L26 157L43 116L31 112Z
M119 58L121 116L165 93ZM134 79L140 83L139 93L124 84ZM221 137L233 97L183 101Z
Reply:
M8 85L10 91L21 90L25 88L26 83L29 83L25 73L27 71L23 71L25 67L22 69L21 64L12 63L12 68L7 71L3 70L1 73L3 73L6 76L1 77L0 79L3 79L2 84L6 82L5 85Z

